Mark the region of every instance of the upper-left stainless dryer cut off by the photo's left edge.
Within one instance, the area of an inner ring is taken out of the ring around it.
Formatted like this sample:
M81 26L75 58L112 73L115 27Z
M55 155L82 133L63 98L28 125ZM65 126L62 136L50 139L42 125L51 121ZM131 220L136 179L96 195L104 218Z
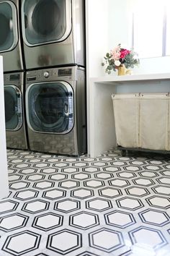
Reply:
M0 54L3 56L4 72L23 70L18 0L0 0L0 24Z

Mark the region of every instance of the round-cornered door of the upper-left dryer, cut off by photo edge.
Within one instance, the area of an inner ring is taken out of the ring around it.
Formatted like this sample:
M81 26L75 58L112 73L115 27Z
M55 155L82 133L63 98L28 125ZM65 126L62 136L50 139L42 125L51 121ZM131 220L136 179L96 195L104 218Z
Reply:
M17 9L11 1L0 3L0 52L12 51L17 46Z

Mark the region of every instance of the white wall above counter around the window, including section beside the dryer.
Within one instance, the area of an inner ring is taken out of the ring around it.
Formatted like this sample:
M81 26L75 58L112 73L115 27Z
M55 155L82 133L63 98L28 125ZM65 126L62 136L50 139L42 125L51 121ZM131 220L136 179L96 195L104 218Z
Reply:
M131 0L86 0L87 77L106 75L101 67L103 56L118 43L131 47L131 7ZM168 73L169 61L170 56L140 59L133 74Z

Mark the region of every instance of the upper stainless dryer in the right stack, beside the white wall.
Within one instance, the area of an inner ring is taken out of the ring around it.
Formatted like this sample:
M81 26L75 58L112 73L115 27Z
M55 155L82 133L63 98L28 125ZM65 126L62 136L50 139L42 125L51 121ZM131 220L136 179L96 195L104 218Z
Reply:
M26 69L85 66L84 0L22 0Z

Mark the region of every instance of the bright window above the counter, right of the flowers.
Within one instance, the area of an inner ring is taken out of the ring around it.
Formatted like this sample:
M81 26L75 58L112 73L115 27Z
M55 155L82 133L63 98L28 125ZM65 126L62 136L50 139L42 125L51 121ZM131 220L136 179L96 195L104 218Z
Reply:
M133 48L140 58L170 55L169 0L133 0Z

